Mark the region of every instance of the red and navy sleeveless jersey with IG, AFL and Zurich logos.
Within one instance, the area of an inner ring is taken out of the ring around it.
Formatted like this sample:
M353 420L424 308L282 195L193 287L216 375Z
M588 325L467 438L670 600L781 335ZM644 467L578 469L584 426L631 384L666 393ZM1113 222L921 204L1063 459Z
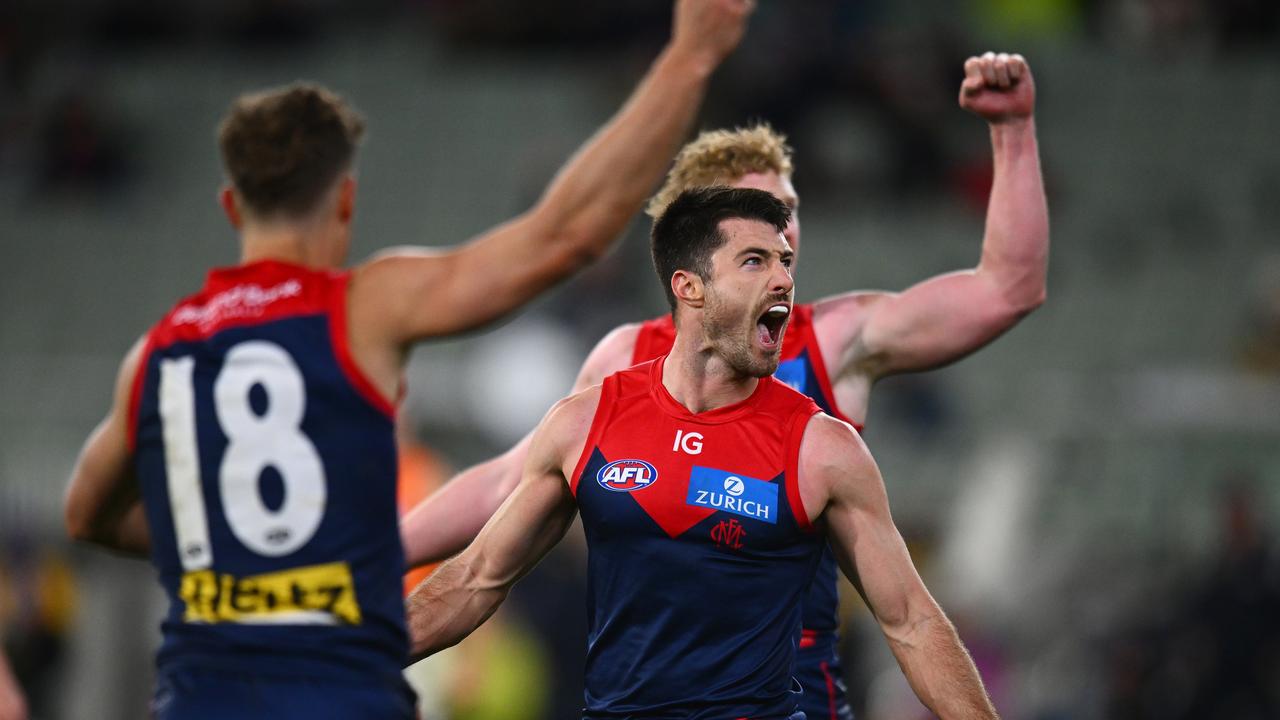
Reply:
M787 717L824 544L796 484L819 409L773 378L690 413L658 359L604 379L571 479L588 561L586 717Z

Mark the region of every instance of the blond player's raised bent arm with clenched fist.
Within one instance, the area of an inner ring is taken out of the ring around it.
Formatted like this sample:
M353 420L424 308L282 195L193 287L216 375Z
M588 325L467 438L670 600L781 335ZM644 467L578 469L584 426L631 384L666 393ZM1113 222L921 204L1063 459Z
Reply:
M836 377L923 370L991 342L1044 301L1048 208L1036 142L1036 87L1020 55L965 61L960 106L991 128L995 179L982 259L900 293L820 301L814 318ZM833 341L833 342L832 342Z

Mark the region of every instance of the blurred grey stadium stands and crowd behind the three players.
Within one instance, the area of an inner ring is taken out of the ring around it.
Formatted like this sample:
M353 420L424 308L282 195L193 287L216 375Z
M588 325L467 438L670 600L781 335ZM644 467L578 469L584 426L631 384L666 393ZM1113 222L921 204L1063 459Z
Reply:
M233 264L214 126L311 78L369 119L353 259L526 208L664 40L667 0L8 0L0 5L0 637L33 717L138 717L163 598L64 541L60 497L128 345ZM1280 4L763 0L700 127L796 149L797 297L978 259L969 54L1039 86L1048 302L975 356L883 382L867 441L927 582L1010 719L1280 717ZM431 487L506 447L617 323L663 311L637 220L493 333L413 357ZM415 670L426 717L576 717L567 542ZM708 598L732 602L732 598ZM920 710L856 597L867 720Z

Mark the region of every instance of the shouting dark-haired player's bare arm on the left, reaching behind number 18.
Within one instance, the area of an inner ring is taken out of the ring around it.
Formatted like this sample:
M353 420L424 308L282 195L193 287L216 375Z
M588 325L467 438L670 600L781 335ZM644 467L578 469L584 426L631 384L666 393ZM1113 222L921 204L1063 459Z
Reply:
M410 593L406 614L415 661L471 634L564 537L577 514L564 468L581 454L598 401L599 391L588 391L548 413L530 441L516 492L474 543Z

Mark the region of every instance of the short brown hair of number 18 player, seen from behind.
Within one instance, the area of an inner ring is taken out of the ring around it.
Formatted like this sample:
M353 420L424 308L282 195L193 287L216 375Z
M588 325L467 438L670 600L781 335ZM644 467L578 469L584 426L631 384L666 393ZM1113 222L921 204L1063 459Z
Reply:
M218 146L253 214L302 217L351 168L364 132L342 97L296 82L237 97L218 126Z

